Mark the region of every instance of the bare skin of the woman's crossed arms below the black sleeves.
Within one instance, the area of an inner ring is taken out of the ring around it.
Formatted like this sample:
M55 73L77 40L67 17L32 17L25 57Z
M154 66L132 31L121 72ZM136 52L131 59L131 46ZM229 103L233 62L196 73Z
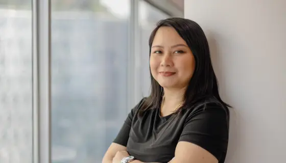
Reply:
M120 163L123 157L129 156L126 147L112 143L105 153L102 163ZM218 159L207 150L189 142L179 142L174 159L170 163L218 163ZM134 160L132 163L147 163ZM149 162L151 163L151 162ZM153 163L153 162L152 162Z

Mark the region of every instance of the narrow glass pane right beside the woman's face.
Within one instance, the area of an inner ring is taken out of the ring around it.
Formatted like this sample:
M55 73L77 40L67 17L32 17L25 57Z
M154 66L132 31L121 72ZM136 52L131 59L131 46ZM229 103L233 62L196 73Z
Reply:
M157 21L170 17L164 14L157 8L151 6L145 1L139 1L139 26L140 26L140 66L138 67L139 74L138 81L141 82L140 95L148 96L150 95L151 80L150 80L150 70L149 70L149 36L154 30Z

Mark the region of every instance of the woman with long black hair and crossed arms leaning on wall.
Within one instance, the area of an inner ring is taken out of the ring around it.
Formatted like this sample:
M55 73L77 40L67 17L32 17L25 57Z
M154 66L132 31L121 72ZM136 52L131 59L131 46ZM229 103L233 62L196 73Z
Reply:
M192 20L164 19L149 46L151 95L132 109L102 162L224 162L229 105L203 30Z

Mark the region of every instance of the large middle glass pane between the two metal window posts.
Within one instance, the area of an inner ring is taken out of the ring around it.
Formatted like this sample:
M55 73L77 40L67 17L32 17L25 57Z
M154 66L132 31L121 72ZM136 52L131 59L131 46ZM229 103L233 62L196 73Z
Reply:
M127 116L129 0L52 1L52 161L101 162Z

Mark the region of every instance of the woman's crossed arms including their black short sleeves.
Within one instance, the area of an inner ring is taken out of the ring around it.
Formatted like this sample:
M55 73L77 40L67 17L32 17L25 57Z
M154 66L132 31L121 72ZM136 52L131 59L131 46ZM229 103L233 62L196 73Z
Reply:
M133 115L133 112L129 114L118 134L120 137L117 136L114 142L127 144ZM175 157L169 163L218 163L219 152L227 149L227 117L223 108L210 106L202 111L198 110L195 116L187 118L176 146ZM102 163L120 163L123 157L129 155L123 145L112 143ZM140 160L132 161L132 163L140 162Z

